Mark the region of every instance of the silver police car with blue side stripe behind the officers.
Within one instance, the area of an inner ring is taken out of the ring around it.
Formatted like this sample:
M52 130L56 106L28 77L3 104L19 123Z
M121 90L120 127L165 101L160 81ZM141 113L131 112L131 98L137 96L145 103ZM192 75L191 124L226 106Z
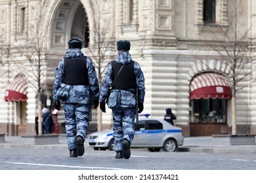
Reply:
M164 151L174 152L183 142L180 127L161 119L140 118L135 125L135 137L131 148L148 148L150 152L159 152L163 148ZM87 143L94 150L114 150L113 129L91 133Z

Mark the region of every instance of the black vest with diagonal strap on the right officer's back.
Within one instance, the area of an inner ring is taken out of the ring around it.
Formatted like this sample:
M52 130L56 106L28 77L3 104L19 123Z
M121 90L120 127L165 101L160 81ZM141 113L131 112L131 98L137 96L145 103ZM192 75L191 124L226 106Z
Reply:
M114 82L114 79L116 78L123 64L118 63L117 61L114 60L111 62L111 65L112 65L112 80ZM134 73L134 61L131 61L131 63L123 65L123 69L117 76L116 81L112 86L112 89L127 90L127 89L135 89L135 88L136 88L136 78Z

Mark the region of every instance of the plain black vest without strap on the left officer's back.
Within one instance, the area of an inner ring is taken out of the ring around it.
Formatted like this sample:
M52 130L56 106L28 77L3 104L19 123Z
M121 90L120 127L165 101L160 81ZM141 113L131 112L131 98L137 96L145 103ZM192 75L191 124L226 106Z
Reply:
M64 84L88 86L86 56L80 58L64 58Z

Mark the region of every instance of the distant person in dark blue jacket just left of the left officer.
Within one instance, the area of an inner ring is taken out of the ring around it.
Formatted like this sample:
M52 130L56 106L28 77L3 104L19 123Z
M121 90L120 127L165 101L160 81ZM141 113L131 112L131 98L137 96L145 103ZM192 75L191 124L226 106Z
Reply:
M42 109L43 114L43 134L50 134L53 132L53 117L50 110L46 107Z

